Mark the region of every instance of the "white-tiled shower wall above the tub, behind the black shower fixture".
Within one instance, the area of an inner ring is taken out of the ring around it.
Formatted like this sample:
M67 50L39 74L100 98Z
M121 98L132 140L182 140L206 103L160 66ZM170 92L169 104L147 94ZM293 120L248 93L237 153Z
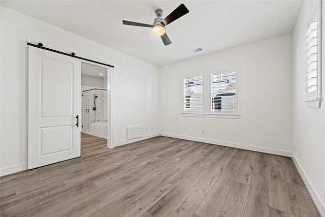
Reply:
M91 133L90 122L107 121L107 90L95 89L99 87L81 86L81 124L82 130ZM93 89L93 90L89 90ZM84 91L88 90L88 91ZM94 96L96 98L96 110L94 107ZM89 109L89 112L87 112Z

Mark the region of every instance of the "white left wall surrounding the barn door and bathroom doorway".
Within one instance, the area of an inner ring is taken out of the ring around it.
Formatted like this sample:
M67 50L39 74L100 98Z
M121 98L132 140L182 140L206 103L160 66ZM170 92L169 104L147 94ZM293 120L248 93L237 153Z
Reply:
M114 145L126 127L143 125L143 139L159 133L159 68L40 20L1 7L0 174L26 169L28 48L26 38L45 47L115 66L112 81ZM36 41L35 41L36 42Z

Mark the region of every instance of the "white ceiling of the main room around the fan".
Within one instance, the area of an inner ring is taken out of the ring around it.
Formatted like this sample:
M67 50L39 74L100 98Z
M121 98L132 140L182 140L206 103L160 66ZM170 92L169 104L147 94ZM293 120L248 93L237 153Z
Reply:
M165 46L151 28L180 4L189 13L166 26ZM1 5L69 32L164 66L293 32L302 1L1 1ZM200 52L193 49L202 48Z

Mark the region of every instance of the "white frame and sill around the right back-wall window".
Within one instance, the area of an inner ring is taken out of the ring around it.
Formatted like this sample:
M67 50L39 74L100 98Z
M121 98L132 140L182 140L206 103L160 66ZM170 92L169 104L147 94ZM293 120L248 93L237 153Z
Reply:
M211 111L211 75L215 73L221 73L221 72L227 72L227 71L236 71L236 111ZM239 67L228 67L223 69L217 69L217 70L210 70L208 73L209 79L208 82L206 82L208 85L208 92L209 92L209 101L207 102L206 107L208 108L208 117L213 118L234 118L238 119L240 117L240 73L239 73Z

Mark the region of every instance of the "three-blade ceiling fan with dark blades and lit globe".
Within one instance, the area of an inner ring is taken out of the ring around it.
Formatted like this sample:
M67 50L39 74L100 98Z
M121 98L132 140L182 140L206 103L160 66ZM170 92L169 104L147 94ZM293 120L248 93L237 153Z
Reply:
M154 22L152 25L150 24L144 24L144 23L138 23L138 22L131 22L123 20L124 25L136 25L136 26L144 26L144 27L151 27L152 33L154 35L160 36L161 39L163 39L163 42L165 45L172 44L171 40L168 38L167 34L165 33L165 26L170 24L171 22L177 20L178 18L184 16L189 11L185 7L184 4L181 4L178 6L170 15L168 15L165 19L161 18L163 15L163 10L157 9L155 11L157 18L154 19Z

